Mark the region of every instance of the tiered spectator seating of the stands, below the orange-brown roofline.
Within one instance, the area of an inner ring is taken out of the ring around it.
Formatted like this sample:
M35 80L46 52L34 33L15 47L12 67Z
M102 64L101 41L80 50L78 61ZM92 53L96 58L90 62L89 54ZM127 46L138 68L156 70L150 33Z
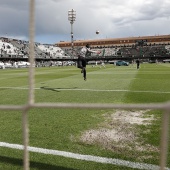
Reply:
M60 48L53 44L41 44L35 43L34 54L36 61L36 66L48 66L58 65L55 63L55 59L75 59L79 54L79 51L82 47L74 46L74 49L71 47ZM91 58L104 57L104 58L143 58L143 57L161 57L167 56L170 57L170 45L164 43L153 43L153 44L144 44L144 45L112 45L112 46L103 46L103 47L93 47L94 50L101 51L100 54L92 53ZM10 38L0 38L0 56L1 62L15 62L14 59L20 61L27 61L29 57L29 41L10 39ZM22 60L23 59L23 60ZM165 59L165 58L164 58ZM42 60L42 61L41 61ZM45 61L48 60L48 61ZM52 62L53 60L53 62ZM9 66L10 67L10 66Z

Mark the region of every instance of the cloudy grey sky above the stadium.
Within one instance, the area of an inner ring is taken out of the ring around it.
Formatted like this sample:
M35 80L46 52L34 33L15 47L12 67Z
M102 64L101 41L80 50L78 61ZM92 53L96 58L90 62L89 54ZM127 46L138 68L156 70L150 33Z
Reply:
M0 0L0 37L29 40L29 8L30 0ZM74 40L170 34L170 0L35 0L34 40L71 41L71 9Z

